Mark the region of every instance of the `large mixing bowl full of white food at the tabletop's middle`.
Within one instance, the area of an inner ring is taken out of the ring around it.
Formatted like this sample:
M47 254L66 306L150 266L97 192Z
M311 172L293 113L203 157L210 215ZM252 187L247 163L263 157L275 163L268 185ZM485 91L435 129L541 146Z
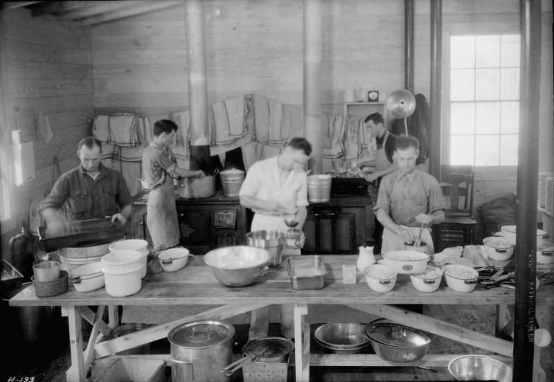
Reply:
M217 281L226 286L246 286L267 273L269 252L252 246L227 246L204 256Z

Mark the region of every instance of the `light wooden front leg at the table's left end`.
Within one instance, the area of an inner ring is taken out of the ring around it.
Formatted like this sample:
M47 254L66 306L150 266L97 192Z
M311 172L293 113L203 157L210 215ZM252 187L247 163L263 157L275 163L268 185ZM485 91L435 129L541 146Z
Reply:
M81 315L75 305L62 307L62 316L67 317L69 326L69 351L71 367L66 372L67 382L84 382L84 356L82 351Z

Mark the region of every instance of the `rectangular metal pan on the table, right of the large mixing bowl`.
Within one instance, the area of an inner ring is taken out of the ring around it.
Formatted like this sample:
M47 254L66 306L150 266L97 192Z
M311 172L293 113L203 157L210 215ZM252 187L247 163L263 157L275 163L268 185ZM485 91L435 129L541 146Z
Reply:
M292 256L287 259L293 289L321 289L324 286L325 263L318 255Z

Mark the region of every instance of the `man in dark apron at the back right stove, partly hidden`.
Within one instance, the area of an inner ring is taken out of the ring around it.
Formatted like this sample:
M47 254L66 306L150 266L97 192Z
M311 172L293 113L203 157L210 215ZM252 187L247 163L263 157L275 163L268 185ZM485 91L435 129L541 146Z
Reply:
M375 152L375 158L371 161L359 161L358 167L370 165L375 167L375 172L364 176L364 179L369 183L375 182L375 188L371 188L370 195L373 198L373 202L377 201L377 190L379 190L379 184L381 179L386 174L390 174L397 170L398 166L394 163L394 150L395 150L395 134L388 131L384 125L383 116L380 113L373 113L366 117L364 125L370 130L371 136L375 137L377 143L377 151ZM375 217L375 230L373 230L373 253L381 253L382 246L383 226Z

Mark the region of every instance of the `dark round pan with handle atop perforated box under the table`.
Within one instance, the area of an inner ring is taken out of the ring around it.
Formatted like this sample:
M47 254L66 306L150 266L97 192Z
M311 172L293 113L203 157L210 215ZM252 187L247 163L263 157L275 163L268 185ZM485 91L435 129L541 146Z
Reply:
M249 341L242 347L244 357L224 367L221 372L231 376L247 361L284 363L294 350L294 342L283 337L264 337Z

